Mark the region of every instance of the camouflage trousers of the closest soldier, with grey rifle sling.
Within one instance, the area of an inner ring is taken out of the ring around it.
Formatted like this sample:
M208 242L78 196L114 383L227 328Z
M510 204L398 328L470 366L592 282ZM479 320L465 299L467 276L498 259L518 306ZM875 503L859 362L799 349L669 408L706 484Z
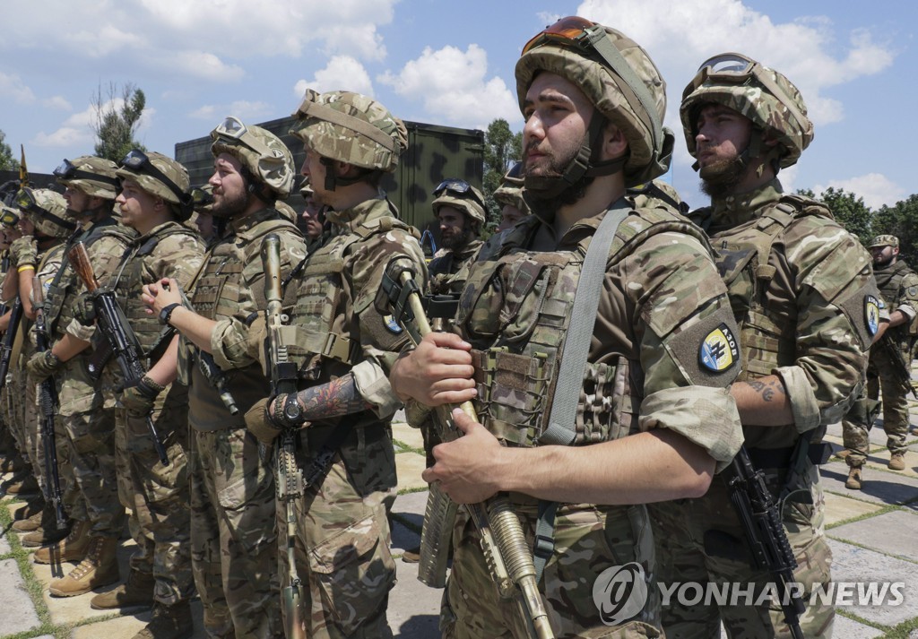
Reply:
M538 505L526 497L520 500L527 503L514 503L513 510L532 548ZM480 544L475 524L460 509L453 529L453 569L442 600L444 639L528 637L516 602L498 594ZM647 597L633 617L610 625L600 611L609 602L596 599L594 585L601 575L610 574L606 571L633 562L642 567ZM661 636L659 599L649 588L654 562L653 534L644 506L559 506L554 553L539 583L554 635L559 639Z

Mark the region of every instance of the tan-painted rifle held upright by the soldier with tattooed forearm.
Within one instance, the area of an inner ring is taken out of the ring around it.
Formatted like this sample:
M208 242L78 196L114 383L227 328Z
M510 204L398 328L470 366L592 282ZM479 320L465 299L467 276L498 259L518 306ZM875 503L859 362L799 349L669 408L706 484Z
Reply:
M271 397L297 392L297 364L290 361L287 345L293 335L292 327L285 326L283 311L284 293L281 286L281 241L276 233L268 234L262 241L262 267L264 272L264 310L267 340L265 354L271 377ZM297 572L295 549L297 544L297 512L294 500L303 496L306 485L297 465L297 431L285 429L280 434L280 445L275 448L274 484L277 499L286 507L286 551L290 585L284 589L285 636L306 639L303 627L302 602L305 597L303 581Z

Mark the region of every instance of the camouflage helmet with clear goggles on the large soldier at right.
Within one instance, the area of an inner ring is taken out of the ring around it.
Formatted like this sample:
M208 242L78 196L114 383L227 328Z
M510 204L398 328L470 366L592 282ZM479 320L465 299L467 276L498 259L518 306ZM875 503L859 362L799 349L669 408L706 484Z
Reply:
M740 53L722 53L701 64L682 92L679 118L692 157L697 152L699 111L711 103L732 108L752 120L763 137L777 140L781 168L797 163L800 153L812 142L812 122L794 84ZM757 149L750 151L750 156L757 157Z

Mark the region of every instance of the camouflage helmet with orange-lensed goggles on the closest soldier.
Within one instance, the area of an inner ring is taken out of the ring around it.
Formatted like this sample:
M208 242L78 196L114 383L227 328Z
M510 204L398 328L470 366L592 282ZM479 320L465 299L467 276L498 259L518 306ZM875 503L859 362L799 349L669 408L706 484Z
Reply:
M663 126L666 83L633 39L582 17L562 18L523 47L516 64L521 111L540 72L560 75L577 85L599 114L621 129L629 147L623 165L626 186L666 173L675 141L672 131ZM593 118L589 137L598 138L604 124L601 118ZM585 174L600 174L596 169L590 161Z

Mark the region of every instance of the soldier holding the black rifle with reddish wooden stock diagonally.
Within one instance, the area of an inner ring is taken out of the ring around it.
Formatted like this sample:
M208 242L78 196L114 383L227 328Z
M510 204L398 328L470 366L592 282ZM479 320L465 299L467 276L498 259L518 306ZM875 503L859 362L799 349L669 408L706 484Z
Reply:
M117 172L121 221L138 232L118 259L117 277L109 285L137 336L147 374L124 387L117 412L115 443L118 496L131 510L130 530L137 550L130 574L117 589L97 595L95 610L153 605L151 622L134 639L179 639L193 633L189 599L191 522L188 510L188 391L172 384L178 340L146 313L140 301L146 282L172 278L188 286L204 256L204 242L182 222L191 214L188 173L161 153L130 151ZM164 353L170 356L163 356ZM108 364L124 386L118 364ZM151 440L152 421L168 464L163 465Z

